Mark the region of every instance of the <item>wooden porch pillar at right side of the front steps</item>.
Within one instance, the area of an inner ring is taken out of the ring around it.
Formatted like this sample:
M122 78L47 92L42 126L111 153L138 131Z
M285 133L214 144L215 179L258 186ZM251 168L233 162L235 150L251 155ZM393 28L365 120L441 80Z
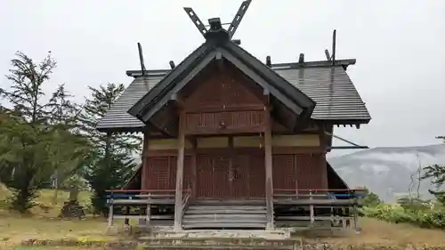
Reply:
M266 208L267 229L273 229L273 182L272 182L272 135L271 135L271 113L265 110L264 130L264 162L266 168Z

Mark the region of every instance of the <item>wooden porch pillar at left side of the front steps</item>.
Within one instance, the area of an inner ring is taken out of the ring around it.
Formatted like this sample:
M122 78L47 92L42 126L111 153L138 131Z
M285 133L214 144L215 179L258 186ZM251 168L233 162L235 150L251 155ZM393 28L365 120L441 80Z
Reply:
M182 178L184 176L184 147L185 136L183 120L185 113L181 110L178 125L178 157L176 164L176 190L174 195L174 230L182 230Z

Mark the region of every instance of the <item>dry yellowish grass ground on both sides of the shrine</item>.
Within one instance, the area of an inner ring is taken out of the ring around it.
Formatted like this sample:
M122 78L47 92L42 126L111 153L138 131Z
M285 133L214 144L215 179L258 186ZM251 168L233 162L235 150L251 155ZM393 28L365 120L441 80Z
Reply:
M0 201L7 198L9 194L0 186ZM29 238L38 239L59 239L59 238L77 238L77 239L95 239L95 240L116 240L117 236L106 235L107 222L104 218L87 217L85 221L63 221L57 218L63 202L68 199L69 194L60 192L57 202L53 203L53 190L42 190L37 203L48 206L42 209L41 206L33 208L32 215L22 216L14 214L6 209L0 208L0 250L14 249L13 245ZM87 203L88 193L80 195L81 203ZM119 223L119 222L117 222ZM445 231L419 229L409 224L391 224L381 222L376 219L360 218L362 231L358 235L347 237L321 238L338 245L391 245L401 246L406 244L414 245L441 245L445 246ZM302 236L298 237L302 238ZM304 238L304 237L303 237ZM19 247L16 250L100 250L98 248L81 247L49 247L40 246L39 248Z

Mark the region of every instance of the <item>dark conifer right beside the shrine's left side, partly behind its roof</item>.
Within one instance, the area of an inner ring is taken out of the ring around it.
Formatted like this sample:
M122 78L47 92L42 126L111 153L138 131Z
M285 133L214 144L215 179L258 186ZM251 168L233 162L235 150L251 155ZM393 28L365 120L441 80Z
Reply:
M108 84L89 87L91 96L86 99L83 114L84 132L93 145L91 161L85 166L84 176L94 190L92 199L96 212L106 213L105 190L121 187L134 173L134 152L141 149L141 138L134 134L100 133L96 125L104 117L124 85Z

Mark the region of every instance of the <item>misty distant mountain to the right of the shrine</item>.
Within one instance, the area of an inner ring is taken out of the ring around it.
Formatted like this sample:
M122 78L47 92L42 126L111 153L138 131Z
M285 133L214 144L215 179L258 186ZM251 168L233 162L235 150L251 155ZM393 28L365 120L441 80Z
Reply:
M419 167L445 165L445 145L409 148L375 148L342 157L328 157L328 162L351 188L366 186L386 202L417 194ZM413 181L411 181L411 178ZM431 198L431 181L420 181L419 193Z

